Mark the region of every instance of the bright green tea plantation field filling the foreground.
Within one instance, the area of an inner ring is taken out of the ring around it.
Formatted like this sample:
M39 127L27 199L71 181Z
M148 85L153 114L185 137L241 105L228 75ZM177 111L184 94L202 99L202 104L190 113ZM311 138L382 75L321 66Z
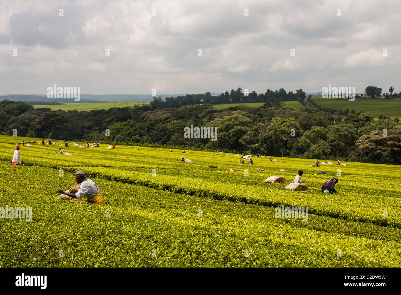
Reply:
M22 139L0 136L0 208L31 207L32 221L0 218L0 267L401 267L400 166L244 165L233 154L105 144L62 146L73 156L21 146L24 166L9 165ZM299 169L308 193L284 189ZM338 194L321 193L337 169ZM77 170L106 204L56 198ZM286 183L263 182L272 175ZM281 205L307 207L308 220L275 218Z

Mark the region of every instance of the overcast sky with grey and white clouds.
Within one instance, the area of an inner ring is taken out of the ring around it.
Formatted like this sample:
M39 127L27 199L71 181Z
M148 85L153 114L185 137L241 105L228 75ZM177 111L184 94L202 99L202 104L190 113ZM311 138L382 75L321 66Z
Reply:
M400 11L388 0L0 0L0 94L53 84L81 94L400 92Z

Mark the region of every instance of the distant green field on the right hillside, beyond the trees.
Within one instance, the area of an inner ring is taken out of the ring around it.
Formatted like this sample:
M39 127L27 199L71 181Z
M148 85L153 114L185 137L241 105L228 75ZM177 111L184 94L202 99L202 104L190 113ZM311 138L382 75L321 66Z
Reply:
M362 98L355 99L353 102L350 102L348 99L339 99L336 98L312 98L314 102L316 102L321 107L335 108L337 110L355 110L356 112L368 112L374 118L378 118L380 114L384 116L390 116L391 118L395 118L398 116L401 118L401 98L392 98L392 99L370 99L370 98Z

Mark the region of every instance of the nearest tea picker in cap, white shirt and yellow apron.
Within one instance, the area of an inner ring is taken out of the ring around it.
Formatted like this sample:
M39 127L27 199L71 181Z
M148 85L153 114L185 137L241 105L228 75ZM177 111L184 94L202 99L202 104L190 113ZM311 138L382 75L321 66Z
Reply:
M75 172L75 179L77 179L77 183L80 184L79 190L76 193L69 193L69 192L67 193L62 189L58 189L57 192L62 193L63 195L67 195L68 197L70 197L68 198L69 200L71 200L71 198L79 199L82 196L87 197L86 202L79 200L71 200L71 201L78 201L80 203L97 203L97 204L105 203L105 201L100 195L99 187L97 187L97 185L93 181L86 178L85 172L81 170Z

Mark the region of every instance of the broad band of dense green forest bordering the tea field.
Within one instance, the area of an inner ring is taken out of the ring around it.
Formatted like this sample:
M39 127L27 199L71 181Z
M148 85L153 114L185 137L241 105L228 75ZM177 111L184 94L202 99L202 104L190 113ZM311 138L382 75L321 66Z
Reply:
M190 125L217 127L217 141L184 138L184 127ZM3 101L0 128L8 135L16 129L18 136L60 141L192 146L207 151L401 164L401 128L396 128L394 120L373 122L373 116L364 112L334 116L312 108L294 110L275 99L266 100L259 108L218 110L210 104L197 104L89 112L35 110L23 102Z

